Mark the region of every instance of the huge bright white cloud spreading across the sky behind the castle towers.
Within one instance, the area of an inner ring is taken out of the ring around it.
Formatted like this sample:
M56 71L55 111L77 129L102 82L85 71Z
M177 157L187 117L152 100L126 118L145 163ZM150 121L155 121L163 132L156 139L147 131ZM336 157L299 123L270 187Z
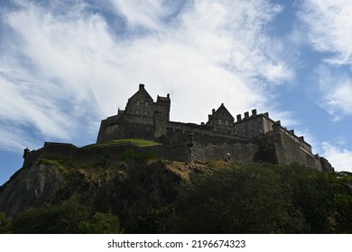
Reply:
M112 23L88 4L58 11L59 2L21 1L2 13L0 131L26 125L44 138L95 139L91 125L124 108L138 83L153 96L171 93L176 121L206 121L220 103L233 113L266 110L271 85L293 76L283 43L265 34L278 5L195 1L165 10L163 1L110 2L119 14Z

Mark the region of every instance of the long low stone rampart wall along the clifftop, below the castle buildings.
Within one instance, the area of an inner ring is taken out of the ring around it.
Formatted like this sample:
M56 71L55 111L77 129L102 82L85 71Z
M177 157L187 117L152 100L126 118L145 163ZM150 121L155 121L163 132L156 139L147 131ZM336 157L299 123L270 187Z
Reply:
M46 142L42 148L32 150L27 154L23 167L31 166L39 158L84 162L97 161L103 157L118 160L125 150L130 148L135 153L154 154L159 158L183 162L209 159L242 162L266 161L275 164L299 163L320 171L333 171L327 159L308 153L298 143L288 138L283 130L268 133L266 138L260 139L258 143L260 144L236 143L221 146L181 143L153 147L139 147L134 143L125 143L114 146L77 148L72 144Z

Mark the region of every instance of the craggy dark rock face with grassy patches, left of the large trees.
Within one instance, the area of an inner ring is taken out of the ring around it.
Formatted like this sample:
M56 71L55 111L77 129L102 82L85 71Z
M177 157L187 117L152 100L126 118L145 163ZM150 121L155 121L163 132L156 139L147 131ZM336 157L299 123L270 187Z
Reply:
M14 217L28 207L77 199L94 211L112 209L128 229L145 209L171 203L176 186L197 166L167 161L112 161L73 164L39 159L0 187L0 211ZM125 222L125 223L124 223Z

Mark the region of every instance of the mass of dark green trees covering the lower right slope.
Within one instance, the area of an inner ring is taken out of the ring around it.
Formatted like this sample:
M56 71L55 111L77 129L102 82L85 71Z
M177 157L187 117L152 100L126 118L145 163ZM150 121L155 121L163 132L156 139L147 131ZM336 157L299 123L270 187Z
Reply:
M236 164L183 184L171 232L351 233L352 176Z

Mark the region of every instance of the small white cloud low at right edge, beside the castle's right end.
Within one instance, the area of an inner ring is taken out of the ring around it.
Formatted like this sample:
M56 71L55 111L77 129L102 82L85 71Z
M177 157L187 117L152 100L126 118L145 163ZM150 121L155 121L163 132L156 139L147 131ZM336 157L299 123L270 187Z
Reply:
M335 167L336 171L352 172L351 150L335 146L329 142L324 142L322 148L324 150L324 157L329 159L329 162Z

